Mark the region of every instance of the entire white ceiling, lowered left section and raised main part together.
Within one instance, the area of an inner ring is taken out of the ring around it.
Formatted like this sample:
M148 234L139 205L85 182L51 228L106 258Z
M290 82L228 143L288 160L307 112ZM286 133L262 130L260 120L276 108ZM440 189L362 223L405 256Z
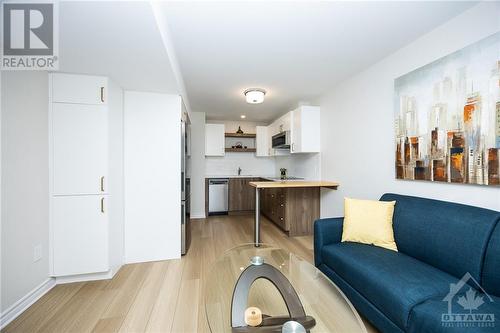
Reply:
M165 2L193 111L266 122L315 102L474 2ZM149 1L60 2L60 70L183 94ZM156 12L156 14L158 14ZM169 47L169 53L172 47ZM260 105L243 90L268 91Z

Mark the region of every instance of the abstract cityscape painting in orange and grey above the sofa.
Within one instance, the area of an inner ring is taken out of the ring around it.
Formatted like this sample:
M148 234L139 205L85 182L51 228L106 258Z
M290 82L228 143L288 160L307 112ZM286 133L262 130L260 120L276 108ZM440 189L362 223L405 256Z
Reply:
M394 86L397 179L500 185L500 32Z

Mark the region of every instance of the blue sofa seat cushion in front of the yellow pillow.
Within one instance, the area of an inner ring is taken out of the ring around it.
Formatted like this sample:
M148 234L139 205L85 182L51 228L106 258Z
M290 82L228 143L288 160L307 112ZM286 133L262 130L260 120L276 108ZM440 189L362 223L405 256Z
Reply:
M323 262L401 329L410 310L446 295L457 279L402 253L359 243L337 243L322 250Z

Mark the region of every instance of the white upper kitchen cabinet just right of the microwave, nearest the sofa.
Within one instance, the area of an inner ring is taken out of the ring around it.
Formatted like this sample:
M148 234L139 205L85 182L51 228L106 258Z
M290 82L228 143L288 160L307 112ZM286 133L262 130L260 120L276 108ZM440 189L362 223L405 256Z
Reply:
M291 112L290 152L319 153L320 151L320 108L300 106Z

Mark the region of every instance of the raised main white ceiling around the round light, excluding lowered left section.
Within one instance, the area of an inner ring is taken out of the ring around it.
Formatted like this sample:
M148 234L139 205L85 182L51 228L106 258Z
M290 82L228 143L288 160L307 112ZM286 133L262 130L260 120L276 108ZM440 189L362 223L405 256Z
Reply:
M214 120L246 114L268 121L300 101L314 102L473 4L169 2L161 10L192 110ZM268 90L264 104L245 103L248 87Z

